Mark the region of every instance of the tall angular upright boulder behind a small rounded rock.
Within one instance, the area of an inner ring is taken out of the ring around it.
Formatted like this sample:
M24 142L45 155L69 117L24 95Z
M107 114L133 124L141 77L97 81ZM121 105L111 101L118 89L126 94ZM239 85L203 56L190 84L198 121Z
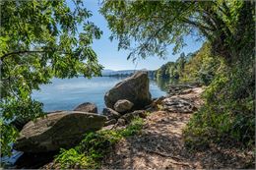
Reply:
M127 99L134 104L133 108L143 108L151 103L149 84L147 72L136 72L133 76L123 80L106 92L104 96L105 105L113 109L116 101Z

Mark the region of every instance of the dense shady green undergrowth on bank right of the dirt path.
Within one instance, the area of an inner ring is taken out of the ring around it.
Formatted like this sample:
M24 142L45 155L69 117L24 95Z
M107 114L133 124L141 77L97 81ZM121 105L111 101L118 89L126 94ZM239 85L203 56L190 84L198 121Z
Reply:
M253 70L241 71L237 66L224 71L206 88L204 106L184 130L185 143L190 148L204 148L211 142L242 147L255 143Z

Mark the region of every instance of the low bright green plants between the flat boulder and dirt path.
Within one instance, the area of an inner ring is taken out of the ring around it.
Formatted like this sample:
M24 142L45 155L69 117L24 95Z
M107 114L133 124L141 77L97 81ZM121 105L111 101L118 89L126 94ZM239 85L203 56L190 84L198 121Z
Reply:
M122 130L103 130L88 133L85 139L76 147L62 148L60 153L55 156L54 164L60 165L62 169L98 169L100 168L100 161L111 151L116 142L139 134L143 125L143 119L135 118Z

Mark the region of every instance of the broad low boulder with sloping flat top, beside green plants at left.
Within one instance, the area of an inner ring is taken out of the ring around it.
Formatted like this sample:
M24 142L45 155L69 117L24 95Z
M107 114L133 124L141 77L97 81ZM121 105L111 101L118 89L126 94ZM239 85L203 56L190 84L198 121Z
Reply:
M24 152L46 152L72 147L83 140L86 132L101 129L105 121L105 116L94 113L51 113L26 124L14 148Z

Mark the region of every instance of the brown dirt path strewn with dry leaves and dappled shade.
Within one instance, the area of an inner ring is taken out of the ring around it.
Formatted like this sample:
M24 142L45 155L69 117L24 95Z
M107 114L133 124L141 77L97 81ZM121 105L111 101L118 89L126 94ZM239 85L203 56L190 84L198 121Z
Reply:
M202 88L176 95L200 105ZM211 145L202 151L184 146L182 129L191 113L153 112L142 134L118 142L103 161L102 169L199 169L246 168L252 154L236 148Z

